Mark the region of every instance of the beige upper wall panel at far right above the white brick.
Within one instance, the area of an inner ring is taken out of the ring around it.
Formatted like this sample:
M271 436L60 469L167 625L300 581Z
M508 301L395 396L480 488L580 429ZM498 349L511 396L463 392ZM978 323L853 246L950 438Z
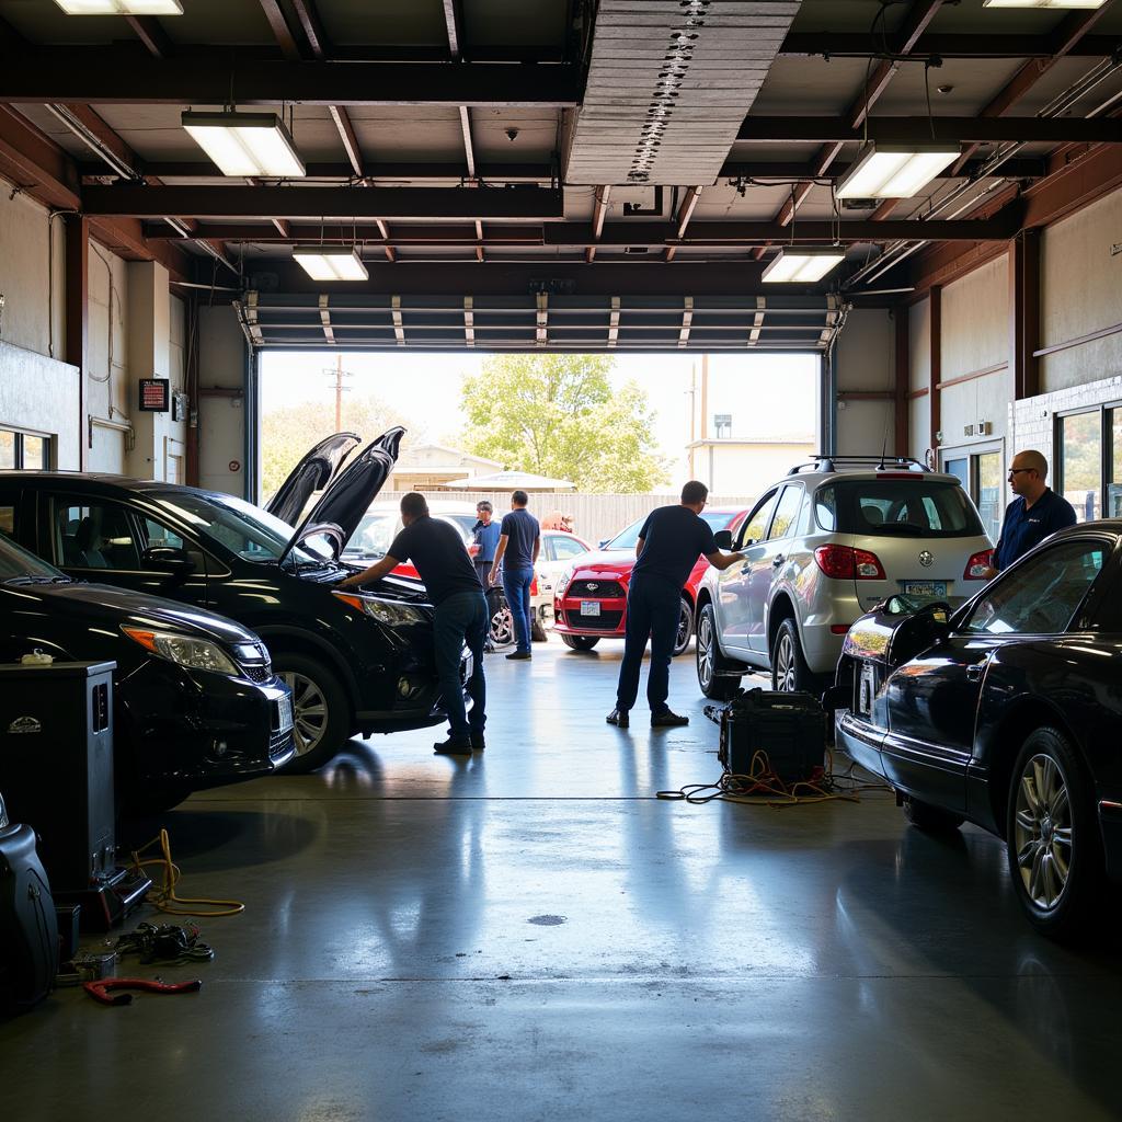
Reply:
M1040 346L1122 322L1122 191L1045 230L1040 240ZM1048 393L1122 374L1122 332L1040 360Z

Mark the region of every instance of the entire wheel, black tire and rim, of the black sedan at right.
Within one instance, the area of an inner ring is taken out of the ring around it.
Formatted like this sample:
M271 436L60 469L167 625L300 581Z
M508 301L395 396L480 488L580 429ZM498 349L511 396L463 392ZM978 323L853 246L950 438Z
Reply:
M1070 741L1038 728L1009 783L1005 849L1029 921L1058 941L1082 935L1102 899L1103 848L1092 784Z

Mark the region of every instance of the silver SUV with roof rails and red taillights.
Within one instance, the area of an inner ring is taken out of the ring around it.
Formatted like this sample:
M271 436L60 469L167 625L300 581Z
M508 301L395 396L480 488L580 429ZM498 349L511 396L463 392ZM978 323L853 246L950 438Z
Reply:
M792 468L733 548L745 561L706 572L695 622L698 682L718 699L752 670L770 670L776 690L817 692L859 616L899 594L960 604L993 557L955 476L875 456Z

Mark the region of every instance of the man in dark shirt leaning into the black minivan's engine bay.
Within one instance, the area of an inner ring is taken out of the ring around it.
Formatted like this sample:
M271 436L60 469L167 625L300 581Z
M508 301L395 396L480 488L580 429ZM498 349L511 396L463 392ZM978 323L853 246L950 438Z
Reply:
M440 691L448 709L448 739L433 745L444 755L471 755L472 748L486 747L487 683L484 680L484 638L487 634L487 601L463 539L447 522L429 516L424 495L411 491L402 498L404 530L394 539L389 552L365 572L341 581L339 588L353 588L380 580L403 561L412 561L421 574L436 609L433 638ZM468 719L460 687L460 654L467 643L471 652L471 716Z

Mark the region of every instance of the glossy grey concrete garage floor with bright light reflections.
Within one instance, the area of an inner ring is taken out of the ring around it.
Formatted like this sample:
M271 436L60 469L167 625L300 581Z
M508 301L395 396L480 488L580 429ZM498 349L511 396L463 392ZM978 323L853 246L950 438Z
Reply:
M378 738L167 815L181 892L247 903L163 972L202 992L0 1023L0 1116L1122 1116L1116 940L1041 940L995 839L888 794L655 801L717 779L716 727L692 652L689 728L605 725L619 654L489 657L470 761Z

